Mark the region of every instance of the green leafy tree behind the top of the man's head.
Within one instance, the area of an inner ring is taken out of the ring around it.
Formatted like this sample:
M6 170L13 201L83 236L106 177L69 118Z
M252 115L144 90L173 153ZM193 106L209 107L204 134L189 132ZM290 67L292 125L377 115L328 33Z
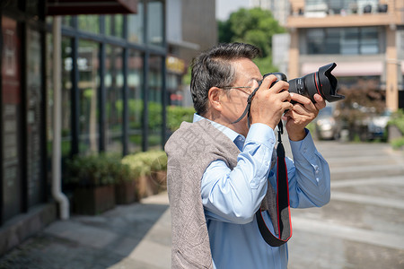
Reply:
M225 22L218 22L219 42L243 42L261 49L270 60L272 36L285 32L272 13L260 8L240 9Z

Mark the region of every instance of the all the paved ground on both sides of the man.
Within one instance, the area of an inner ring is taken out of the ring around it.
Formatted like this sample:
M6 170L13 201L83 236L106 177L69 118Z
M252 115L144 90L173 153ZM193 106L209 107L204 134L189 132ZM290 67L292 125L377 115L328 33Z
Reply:
M289 268L404 268L404 152L379 143L316 144L331 167L331 202L292 211ZM53 222L0 258L0 268L170 268L170 229L162 193Z

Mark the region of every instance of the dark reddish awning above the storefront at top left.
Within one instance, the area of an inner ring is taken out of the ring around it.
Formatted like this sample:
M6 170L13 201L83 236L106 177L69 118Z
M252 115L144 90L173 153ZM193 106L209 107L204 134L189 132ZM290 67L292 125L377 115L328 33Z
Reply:
M137 0L47 0L47 15L137 13Z

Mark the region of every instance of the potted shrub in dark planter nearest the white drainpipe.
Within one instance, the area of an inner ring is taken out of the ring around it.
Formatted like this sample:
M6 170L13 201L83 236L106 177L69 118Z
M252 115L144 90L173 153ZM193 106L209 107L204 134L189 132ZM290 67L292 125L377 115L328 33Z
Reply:
M115 178L120 161L105 154L66 161L67 184L73 189L73 212L99 214L115 207Z

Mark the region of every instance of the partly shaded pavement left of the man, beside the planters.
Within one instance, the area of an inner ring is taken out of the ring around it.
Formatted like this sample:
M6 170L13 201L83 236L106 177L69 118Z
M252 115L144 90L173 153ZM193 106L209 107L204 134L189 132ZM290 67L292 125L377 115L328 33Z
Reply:
M167 193L99 216L55 221L0 257L0 268L171 268Z

